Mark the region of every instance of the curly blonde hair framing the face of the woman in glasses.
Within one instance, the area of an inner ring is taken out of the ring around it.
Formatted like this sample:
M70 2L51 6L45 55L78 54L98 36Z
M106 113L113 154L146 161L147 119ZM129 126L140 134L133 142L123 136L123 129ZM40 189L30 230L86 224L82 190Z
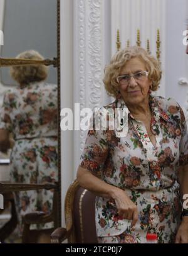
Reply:
M109 96L117 97L119 84L117 77L120 75L122 68L131 58L140 58L144 62L147 71L149 71L149 79L152 81L152 91L157 91L162 75L160 63L156 58L150 55L142 47L128 47L119 50L111 59L110 64L105 67L105 77L103 82Z

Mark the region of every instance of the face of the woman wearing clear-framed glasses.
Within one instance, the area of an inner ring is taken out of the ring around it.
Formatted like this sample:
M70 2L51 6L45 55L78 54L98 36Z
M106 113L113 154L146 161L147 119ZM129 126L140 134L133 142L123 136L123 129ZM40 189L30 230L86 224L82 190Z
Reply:
M139 71L147 71L144 62L139 58L131 58L122 68L120 75L132 75ZM141 80L130 78L127 84L120 84L120 93L127 104L139 104L148 99L152 82L147 76Z

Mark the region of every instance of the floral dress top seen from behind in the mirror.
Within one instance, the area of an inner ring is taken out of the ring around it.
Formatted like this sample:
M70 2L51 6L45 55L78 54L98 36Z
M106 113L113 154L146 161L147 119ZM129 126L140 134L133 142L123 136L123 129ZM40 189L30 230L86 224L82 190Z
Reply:
M57 136L57 86L44 82L9 90L1 109L0 128L14 138Z

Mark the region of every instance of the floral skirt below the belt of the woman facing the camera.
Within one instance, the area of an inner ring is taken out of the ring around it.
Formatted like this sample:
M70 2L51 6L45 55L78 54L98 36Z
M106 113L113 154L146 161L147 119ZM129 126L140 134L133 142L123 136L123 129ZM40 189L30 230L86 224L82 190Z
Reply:
M118 216L113 200L102 201L102 211L97 217L100 228L106 228L108 219L113 221L117 233L98 237L99 243L146 243L147 233L156 233L159 243L174 243L180 220L179 186L159 191L140 191L125 189L127 195L138 208L138 221L130 228L131 221ZM100 204L100 203L99 203ZM109 221L110 222L110 221ZM120 231L119 235L118 231ZM123 232L122 232L123 231Z

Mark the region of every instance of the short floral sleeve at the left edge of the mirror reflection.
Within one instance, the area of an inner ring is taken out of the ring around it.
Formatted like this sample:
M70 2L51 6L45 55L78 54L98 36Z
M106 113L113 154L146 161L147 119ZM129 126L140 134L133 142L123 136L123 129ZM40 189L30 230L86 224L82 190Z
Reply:
M9 97L9 95L11 95L9 92L4 94L3 105L0 111L0 129L5 129L11 132L13 131L13 125L11 121L12 103L11 97Z

